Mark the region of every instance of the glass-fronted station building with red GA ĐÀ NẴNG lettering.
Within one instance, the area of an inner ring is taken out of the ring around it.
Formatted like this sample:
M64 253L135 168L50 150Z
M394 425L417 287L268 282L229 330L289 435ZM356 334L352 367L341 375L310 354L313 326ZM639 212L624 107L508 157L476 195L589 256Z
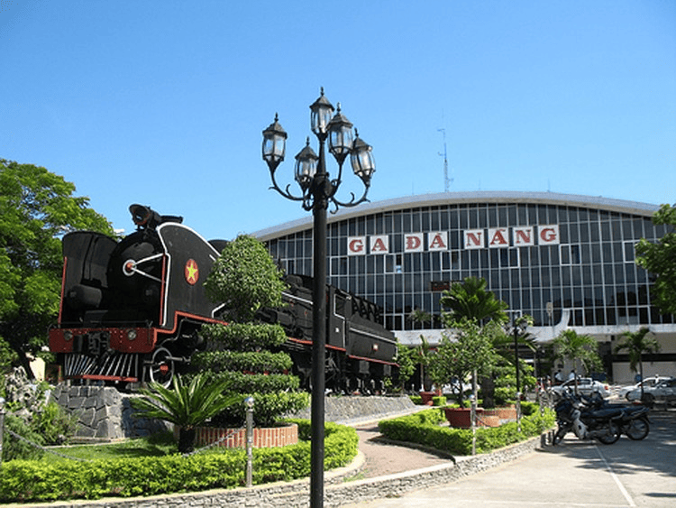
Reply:
M376 302L400 343L431 344L443 333L439 300L453 282L481 277L528 332L548 342L562 330L597 338L607 374L634 379L622 333L650 328L661 345L644 375L676 375L676 319L651 305L651 277L635 264L659 207L552 192L444 192L343 208L329 214L329 284ZM312 216L254 233L288 273L313 273ZM419 309L434 316L422 329Z

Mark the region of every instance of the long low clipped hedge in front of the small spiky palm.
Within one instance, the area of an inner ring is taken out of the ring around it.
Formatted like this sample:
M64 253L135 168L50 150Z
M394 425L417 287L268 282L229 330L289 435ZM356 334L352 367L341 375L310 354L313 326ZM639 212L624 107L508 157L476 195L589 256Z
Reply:
M310 422L298 424L297 445L253 450L253 482L289 481L310 475ZM327 422L324 467L345 466L357 455L354 429ZM194 492L244 485L243 449L190 457L139 457L59 462L13 460L0 468L0 503L97 499Z

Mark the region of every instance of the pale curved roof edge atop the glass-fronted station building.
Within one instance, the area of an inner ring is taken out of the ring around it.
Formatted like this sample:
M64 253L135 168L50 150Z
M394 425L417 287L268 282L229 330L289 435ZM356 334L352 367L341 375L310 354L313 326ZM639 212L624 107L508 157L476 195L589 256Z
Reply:
M382 213L407 208L436 207L460 203L529 203L560 205L578 208L600 208L608 211L626 213L644 217L653 217L660 207L638 201L609 199L601 196L583 196L580 194L557 194L555 192L518 192L501 190L480 190L475 192L439 192L421 194L404 198L384 199L367 203L355 208L341 208L335 214L329 214L327 222L333 223L351 217ZM268 227L252 233L261 241L279 236L287 236L312 227L312 215L292 220L278 226Z

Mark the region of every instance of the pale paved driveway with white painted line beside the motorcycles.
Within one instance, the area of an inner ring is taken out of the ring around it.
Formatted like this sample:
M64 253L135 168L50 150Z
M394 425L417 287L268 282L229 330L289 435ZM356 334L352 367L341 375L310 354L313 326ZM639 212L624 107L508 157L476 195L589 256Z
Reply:
M604 446L569 435L561 446L451 484L344 508L676 506L676 411L653 411L651 421L643 441L622 437Z

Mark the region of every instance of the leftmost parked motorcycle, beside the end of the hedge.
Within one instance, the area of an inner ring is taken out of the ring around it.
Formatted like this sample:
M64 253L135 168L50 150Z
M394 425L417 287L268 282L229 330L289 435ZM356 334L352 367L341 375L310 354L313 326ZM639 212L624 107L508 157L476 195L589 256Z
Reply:
M612 445L620 439L620 421L624 414L621 408L590 408L580 398L563 392L554 411L558 425L554 445L571 430L579 439L598 439L604 445Z

